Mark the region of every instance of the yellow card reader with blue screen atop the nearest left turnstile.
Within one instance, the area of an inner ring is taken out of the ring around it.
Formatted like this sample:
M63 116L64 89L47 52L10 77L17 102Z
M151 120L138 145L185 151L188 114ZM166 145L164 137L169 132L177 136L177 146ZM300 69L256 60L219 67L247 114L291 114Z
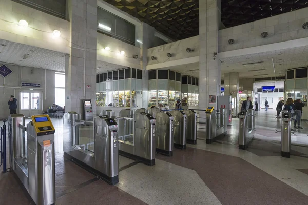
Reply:
M54 134L55 130L48 115L31 116L36 136Z

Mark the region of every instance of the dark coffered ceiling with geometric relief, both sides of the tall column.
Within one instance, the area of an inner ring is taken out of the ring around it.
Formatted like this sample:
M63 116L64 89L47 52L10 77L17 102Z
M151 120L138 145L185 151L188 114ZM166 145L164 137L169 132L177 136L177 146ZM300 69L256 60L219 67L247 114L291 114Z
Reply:
M172 39L199 35L199 1L104 0ZM233 27L308 7L307 0L221 0L221 21Z

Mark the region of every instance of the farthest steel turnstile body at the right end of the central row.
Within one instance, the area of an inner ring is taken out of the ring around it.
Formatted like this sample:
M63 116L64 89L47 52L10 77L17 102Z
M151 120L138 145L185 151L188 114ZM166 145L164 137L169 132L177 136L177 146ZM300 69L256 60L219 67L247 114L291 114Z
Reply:
M186 142L197 144L197 113L194 110L183 110L187 116Z

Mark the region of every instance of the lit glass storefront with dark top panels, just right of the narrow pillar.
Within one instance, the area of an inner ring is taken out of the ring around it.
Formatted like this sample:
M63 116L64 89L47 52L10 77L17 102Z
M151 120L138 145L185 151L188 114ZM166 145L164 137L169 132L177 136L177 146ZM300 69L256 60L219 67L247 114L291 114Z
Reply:
M168 105L175 108L177 99L181 99L181 73L169 70L150 70L148 88L148 106Z

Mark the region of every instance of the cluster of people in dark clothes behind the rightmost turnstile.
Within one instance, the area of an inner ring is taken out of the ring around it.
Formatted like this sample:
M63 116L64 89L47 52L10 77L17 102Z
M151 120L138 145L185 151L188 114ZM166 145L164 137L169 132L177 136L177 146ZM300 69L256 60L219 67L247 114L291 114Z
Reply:
M303 129L300 126L300 119L301 119L301 116L303 113L303 107L304 107L304 103L302 102L302 100L296 99L293 101L292 98L288 98L285 103L283 99L280 100L276 107L277 117L280 117L280 112L282 110L282 107L283 107L283 110L288 110L291 113L292 117L294 114L296 115L296 118L294 120L294 129Z

